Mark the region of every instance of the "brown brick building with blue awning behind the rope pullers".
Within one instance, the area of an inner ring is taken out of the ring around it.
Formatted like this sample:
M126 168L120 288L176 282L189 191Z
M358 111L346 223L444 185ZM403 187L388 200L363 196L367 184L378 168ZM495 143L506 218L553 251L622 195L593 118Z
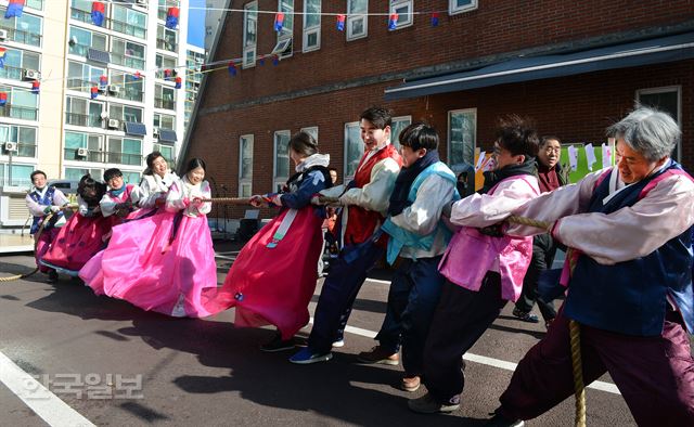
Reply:
M207 74L181 156L203 157L219 194L286 180L286 142L300 129L318 135L342 181L361 155L357 120L370 105L395 112L395 133L432 124L442 159L457 164L489 151L500 115L529 116L565 143L600 144L638 100L676 116L674 156L694 167L691 0L244 0L231 9L245 12L226 14L213 54L239 59L237 75L224 65ZM344 31L331 14L347 14Z

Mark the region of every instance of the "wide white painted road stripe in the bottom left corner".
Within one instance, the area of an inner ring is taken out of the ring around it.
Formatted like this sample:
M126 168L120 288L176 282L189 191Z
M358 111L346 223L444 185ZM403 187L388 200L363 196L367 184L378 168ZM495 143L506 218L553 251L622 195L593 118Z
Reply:
M95 427L2 352L0 352L0 381L49 426Z

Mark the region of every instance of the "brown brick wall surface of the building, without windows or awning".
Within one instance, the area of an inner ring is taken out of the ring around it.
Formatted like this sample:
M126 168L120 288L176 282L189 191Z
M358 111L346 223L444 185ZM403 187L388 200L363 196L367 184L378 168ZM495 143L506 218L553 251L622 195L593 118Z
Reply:
M246 3L246 2L243 2ZM234 2L235 9L243 3ZM383 12L370 2L370 12ZM447 1L416 1L416 10L445 10ZM295 10L303 1L295 0ZM324 13L344 13L323 1ZM277 1L258 2L259 10L277 9ZM232 13L223 29L215 61L240 59L243 14ZM258 16L258 55L277 41L272 14ZM273 133L318 126L321 151L330 153L340 176L345 169L345 124L357 121L371 105L384 105L396 116L434 125L448 159L448 112L476 108L476 146L489 151L494 122L504 114L531 117L540 133L566 143L605 142L605 128L633 107L640 89L679 86L683 127L682 161L694 167L692 119L694 62L615 69L565 78L503 85L485 89L385 102L384 90L403 78L436 75L484 65L519 53L541 54L589 49L694 29L690 1L654 4L642 1L480 1L476 10L441 14L438 27L429 16L415 15L414 25L388 31L385 17L369 18L367 38L346 41L332 16L323 16L321 49L301 53L301 21L294 24L294 54L277 66L271 61L207 77L201 108L193 124L187 158L203 157L217 194L239 194L239 139L254 135L253 193L273 190ZM241 217L243 208L232 209ZM265 212L269 214L269 211ZM215 215L215 214L213 214Z

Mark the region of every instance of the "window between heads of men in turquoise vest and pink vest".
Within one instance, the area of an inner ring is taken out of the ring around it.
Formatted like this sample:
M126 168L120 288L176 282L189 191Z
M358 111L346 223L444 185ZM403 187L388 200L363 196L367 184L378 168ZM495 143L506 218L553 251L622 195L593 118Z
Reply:
M475 165L477 109L448 112L448 164Z

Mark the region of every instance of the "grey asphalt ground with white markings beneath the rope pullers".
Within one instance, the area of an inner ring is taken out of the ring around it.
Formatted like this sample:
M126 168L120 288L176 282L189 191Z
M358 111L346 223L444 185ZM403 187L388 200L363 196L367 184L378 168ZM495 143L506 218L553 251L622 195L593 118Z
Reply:
M230 255L234 248L220 245L218 250ZM27 271L31 262L28 256L2 256L0 272ZM220 281L229 264L219 259ZM356 361L374 344L368 336L381 325L387 277L387 271L377 271L362 288L346 347L333 361L309 366L288 363L291 352L260 352L272 329L235 328L233 311L205 320L171 319L97 297L78 281L49 285L35 275L0 283L0 425L483 425L512 374L494 364L518 362L542 337L543 326L516 321L506 307L471 350L473 358L491 359L467 362L462 407L452 415L412 414L407 399L424 390L397 390L401 367ZM36 385L26 377L12 383L22 371L11 366L50 383L57 399L21 400L17 389L26 394ZM35 413L43 403L50 406L46 420ZM569 399L527 425L569 426L573 411ZM588 390L588 420L592 426L634 424L621 396L596 389Z

